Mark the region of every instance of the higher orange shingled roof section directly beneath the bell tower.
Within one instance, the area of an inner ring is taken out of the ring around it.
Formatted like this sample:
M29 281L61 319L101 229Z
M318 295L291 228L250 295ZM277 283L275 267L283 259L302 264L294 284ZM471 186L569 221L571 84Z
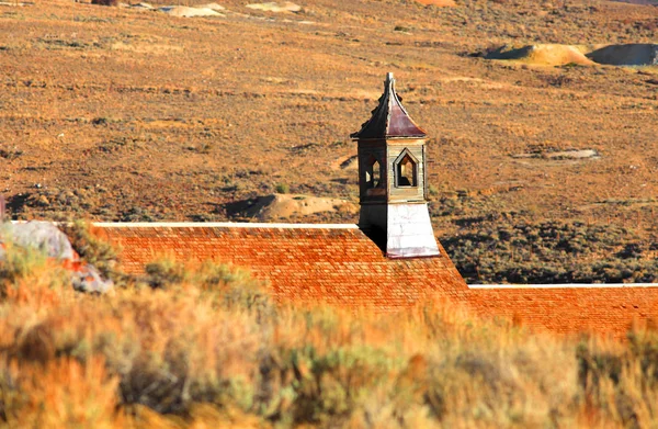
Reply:
M95 224L120 245L126 272L169 256L249 268L279 300L321 300L379 311L430 296L457 298L466 283L440 247L433 258L388 259L355 225Z

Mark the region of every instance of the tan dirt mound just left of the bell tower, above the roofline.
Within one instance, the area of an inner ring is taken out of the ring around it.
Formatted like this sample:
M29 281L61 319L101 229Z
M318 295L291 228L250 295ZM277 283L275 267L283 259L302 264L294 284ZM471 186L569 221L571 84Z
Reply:
M272 194L231 203L226 207L232 217L258 221L286 219L293 215L311 215L353 208L345 200L295 194Z

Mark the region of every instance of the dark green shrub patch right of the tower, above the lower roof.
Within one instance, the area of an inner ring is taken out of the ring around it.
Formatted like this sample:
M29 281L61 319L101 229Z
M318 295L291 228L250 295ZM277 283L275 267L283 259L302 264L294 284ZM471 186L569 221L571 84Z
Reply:
M658 280L658 262L627 229L572 223L481 225L442 241L467 282L622 283Z

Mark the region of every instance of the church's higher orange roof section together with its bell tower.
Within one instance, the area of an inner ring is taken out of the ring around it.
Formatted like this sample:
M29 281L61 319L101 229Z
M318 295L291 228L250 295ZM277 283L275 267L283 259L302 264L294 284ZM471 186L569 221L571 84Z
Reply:
M395 91L393 74L372 117L351 136L359 159L359 225L97 223L139 274L161 257L246 267L279 301L395 311L468 291L436 241L428 210L427 134Z

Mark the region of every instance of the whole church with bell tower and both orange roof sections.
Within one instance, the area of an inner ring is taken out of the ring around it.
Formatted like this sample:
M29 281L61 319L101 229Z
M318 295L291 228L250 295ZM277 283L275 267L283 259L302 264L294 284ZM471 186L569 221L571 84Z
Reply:
M359 225L94 224L139 274L161 257L246 267L277 301L390 312L445 298L484 317L565 335L658 326L656 284L466 285L434 237L428 211L428 139L395 91L393 75L372 117L352 134L359 159Z

